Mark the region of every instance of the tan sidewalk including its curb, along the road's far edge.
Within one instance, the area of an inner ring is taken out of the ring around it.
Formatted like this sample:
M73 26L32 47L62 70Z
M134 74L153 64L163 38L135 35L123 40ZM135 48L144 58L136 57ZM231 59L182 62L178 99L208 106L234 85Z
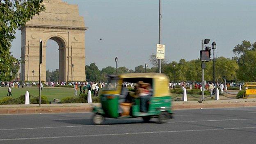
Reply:
M0 105L0 114L41 114L41 113L69 113L91 112L92 107L100 106L100 103L65 103L65 104L38 104L31 105ZM225 108L225 107L253 107L256 106L256 98L229 99L218 101L173 101L172 109L200 109L200 108Z

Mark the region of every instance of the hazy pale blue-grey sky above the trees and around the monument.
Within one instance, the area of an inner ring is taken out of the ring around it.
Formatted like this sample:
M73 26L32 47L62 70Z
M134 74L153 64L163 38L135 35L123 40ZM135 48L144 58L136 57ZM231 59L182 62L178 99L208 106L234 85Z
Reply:
M158 43L159 0L64 0L78 4L85 19L86 64L99 69L118 66L135 69L149 63ZM201 39L217 43L217 56L232 57L243 40L256 41L256 0L162 0L162 44L165 58L199 58ZM100 41L99 39L103 40ZM210 46L210 45L209 45ZM46 69L58 69L58 46L48 41ZM17 30L11 52L21 56ZM51 59L48 59L51 57Z

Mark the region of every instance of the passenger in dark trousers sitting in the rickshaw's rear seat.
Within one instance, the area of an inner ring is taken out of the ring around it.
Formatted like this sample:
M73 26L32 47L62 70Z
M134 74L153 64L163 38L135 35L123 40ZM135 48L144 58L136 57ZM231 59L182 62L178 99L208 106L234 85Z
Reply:
M150 84L142 81L138 82L138 93L140 97L140 111L147 112L147 103L150 101L152 94L152 89L150 89Z

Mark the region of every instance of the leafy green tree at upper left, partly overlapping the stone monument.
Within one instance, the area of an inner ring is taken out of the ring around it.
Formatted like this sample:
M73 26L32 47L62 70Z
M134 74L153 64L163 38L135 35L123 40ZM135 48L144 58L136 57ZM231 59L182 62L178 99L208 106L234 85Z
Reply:
M9 52L11 41L15 39L14 34L18 27L25 25L32 16L45 9L42 2L43 0L0 1L0 80L7 80L8 75L18 73L11 70L18 62Z

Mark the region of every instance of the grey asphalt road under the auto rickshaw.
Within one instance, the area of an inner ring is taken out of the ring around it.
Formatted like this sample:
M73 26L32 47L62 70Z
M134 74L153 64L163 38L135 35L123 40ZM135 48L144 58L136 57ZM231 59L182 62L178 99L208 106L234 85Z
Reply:
M0 144L255 144L256 107L176 110L175 118L106 119L91 113L0 115Z

